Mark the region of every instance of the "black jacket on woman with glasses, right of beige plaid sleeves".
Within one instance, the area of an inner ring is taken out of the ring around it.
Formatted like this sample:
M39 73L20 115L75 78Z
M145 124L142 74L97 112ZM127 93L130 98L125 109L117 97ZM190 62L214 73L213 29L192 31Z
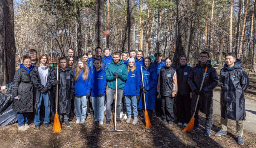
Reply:
M191 70L192 67L187 66L186 64L176 68L178 81L177 95L189 96L190 92L192 92L191 88L189 87L189 84L187 83L187 78L189 77L189 73L191 72Z

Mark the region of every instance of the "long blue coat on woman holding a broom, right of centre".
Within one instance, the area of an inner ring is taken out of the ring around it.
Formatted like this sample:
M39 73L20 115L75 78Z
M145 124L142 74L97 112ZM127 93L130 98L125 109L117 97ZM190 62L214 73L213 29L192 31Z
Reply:
M156 95L157 95L157 71L155 70L156 66L154 66L154 63L151 63L149 68L146 69L146 67L142 67L143 71L143 80L144 80L144 86L145 89L148 91L145 94L146 98L146 108L155 110L155 101L156 101ZM142 102L143 93L140 97L139 102L139 109L142 109L144 106L144 103Z

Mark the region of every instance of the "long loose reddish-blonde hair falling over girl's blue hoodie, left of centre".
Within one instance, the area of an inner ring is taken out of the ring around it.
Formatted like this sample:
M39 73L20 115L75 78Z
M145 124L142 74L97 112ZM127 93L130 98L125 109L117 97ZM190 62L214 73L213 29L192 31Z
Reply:
M88 68L85 60L83 58L79 58L78 62L82 62L83 63L83 75L82 75L83 81L88 80L89 68ZM77 66L75 68L75 77L74 77L76 82L78 82L78 77L80 76L80 74L82 72L81 68L78 66L78 62L77 62Z

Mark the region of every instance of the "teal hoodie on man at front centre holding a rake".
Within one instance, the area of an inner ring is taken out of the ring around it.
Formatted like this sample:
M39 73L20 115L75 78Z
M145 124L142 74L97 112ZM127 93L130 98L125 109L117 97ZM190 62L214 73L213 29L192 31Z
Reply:
M117 90L123 90L125 87L125 81L128 77L127 67L123 64L123 60L119 60L118 64L115 64L114 60L111 59L111 64L107 66L106 79L108 87L116 89L116 79L114 79L114 72L118 73Z

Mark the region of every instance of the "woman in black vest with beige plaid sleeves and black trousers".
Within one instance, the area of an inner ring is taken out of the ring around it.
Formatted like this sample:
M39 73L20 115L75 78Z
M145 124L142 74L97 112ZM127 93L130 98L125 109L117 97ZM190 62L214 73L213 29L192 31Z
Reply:
M176 70L172 68L172 59L165 59L166 66L160 69L157 83L157 92L161 95L161 108L163 113L163 121L165 124L168 120L168 125L172 126L174 117L174 97L177 95L177 75Z

